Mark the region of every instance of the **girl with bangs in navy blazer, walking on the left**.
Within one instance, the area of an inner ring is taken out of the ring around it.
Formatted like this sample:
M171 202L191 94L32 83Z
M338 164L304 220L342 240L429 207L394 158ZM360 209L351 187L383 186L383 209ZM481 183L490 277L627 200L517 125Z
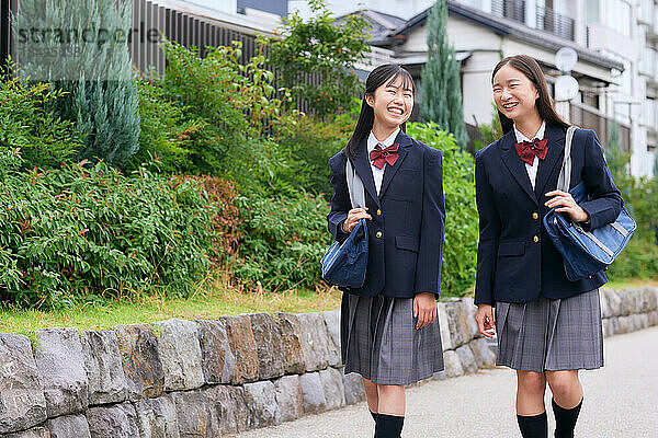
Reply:
M397 65L374 69L354 134L331 158L329 231L341 241L367 219L368 261L361 288L343 290L344 372L363 378L375 437L399 437L405 385L443 370L436 297L445 205L441 152L405 134L415 84ZM365 208L352 208L345 160L362 180Z

